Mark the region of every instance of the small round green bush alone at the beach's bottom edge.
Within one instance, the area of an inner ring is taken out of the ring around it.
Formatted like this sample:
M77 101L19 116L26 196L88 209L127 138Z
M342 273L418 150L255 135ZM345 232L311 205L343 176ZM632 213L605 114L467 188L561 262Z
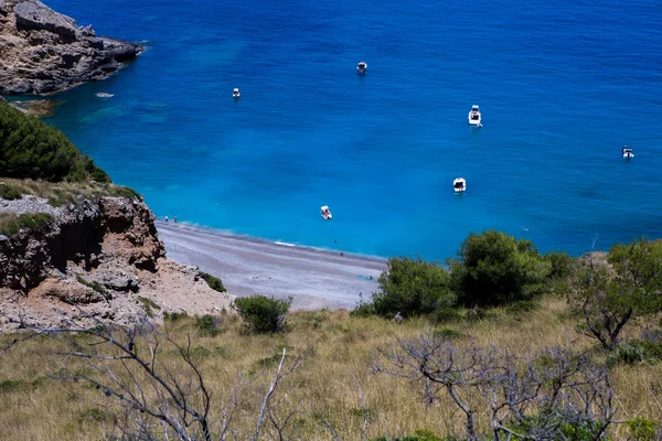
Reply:
M285 301L274 297L253 295L236 299L233 308L249 330L265 334L286 330L286 315L291 302L291 298Z

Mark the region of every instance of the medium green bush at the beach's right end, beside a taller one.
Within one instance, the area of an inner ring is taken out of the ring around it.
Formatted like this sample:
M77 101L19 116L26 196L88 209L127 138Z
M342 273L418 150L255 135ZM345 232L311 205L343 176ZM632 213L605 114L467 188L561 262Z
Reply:
M403 316L429 314L455 304L450 275L438 263L409 258L392 258L377 280L380 292L372 297L377 314ZM365 310L365 309L364 309Z

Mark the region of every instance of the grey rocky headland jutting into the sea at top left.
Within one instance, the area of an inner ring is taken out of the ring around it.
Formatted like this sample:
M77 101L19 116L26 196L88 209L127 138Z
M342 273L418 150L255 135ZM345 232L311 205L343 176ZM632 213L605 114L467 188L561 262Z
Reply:
M0 94L49 94L103 79L141 51L96 36L39 0L0 0Z

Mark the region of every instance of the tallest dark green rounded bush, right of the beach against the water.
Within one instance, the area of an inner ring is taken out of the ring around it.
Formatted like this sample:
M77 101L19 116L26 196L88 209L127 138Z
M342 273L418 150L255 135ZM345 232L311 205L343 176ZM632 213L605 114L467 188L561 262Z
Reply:
M530 240L496 230L472 233L449 260L452 287L467 305L504 305L541 293L552 271Z

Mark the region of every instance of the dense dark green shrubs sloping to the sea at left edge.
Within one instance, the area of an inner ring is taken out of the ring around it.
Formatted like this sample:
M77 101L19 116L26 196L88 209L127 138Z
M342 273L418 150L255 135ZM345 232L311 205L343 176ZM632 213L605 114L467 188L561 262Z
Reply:
M64 133L0 101L0 170L7 178L110 182Z

